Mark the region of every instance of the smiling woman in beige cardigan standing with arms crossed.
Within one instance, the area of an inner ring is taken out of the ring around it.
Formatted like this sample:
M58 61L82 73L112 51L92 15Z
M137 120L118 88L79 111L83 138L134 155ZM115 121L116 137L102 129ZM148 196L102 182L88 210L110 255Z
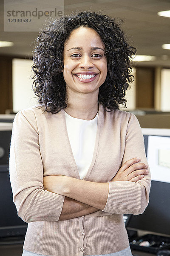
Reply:
M11 140L23 256L131 256L122 215L142 213L150 189L141 128L119 111L134 53L106 15L62 17L40 33L40 105L16 115Z

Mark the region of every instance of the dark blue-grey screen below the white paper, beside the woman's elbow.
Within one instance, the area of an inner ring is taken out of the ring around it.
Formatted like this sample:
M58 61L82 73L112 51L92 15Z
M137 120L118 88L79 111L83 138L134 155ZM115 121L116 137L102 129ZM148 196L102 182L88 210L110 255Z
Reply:
M127 226L170 235L170 183L152 180L148 207L143 214L132 215Z

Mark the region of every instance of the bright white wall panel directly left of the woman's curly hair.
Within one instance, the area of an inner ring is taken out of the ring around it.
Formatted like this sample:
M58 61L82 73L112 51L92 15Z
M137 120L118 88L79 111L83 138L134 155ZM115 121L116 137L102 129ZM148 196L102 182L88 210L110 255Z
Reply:
M33 61L14 58L12 60L12 100L13 111L18 112L36 104L37 97L32 90L33 80L30 77Z

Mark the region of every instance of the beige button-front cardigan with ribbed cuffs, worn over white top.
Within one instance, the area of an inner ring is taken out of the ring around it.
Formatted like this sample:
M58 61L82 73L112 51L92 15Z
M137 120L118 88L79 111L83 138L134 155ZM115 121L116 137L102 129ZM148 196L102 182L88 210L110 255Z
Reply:
M128 247L123 213L142 213L148 204L150 175L137 183L109 182L105 209L58 221L64 196L43 189L43 175L79 179L63 110L43 113L29 108L14 119L10 179L18 215L28 223L24 249L50 256L114 253ZM122 163L140 157L147 163L136 117L99 106L94 155L85 180L108 182Z

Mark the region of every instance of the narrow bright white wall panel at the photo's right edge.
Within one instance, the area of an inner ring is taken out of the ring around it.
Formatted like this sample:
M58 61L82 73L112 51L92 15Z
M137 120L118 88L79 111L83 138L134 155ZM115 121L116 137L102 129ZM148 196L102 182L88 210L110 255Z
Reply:
M161 111L170 111L170 69L161 70Z

